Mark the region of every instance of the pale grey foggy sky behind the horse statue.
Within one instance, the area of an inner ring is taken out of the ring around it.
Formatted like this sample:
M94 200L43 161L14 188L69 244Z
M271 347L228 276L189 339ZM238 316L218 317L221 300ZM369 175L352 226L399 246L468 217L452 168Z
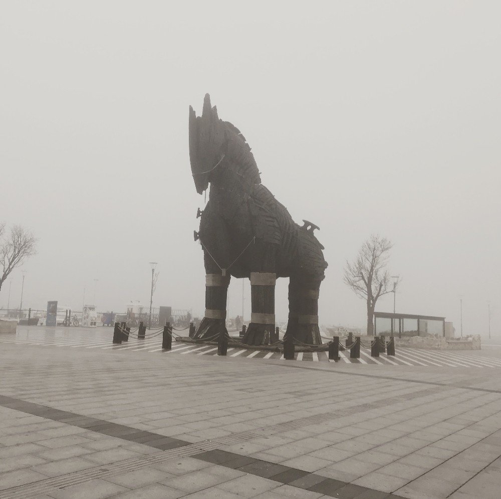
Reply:
M203 313L188 106L209 92L263 184L321 228L321 322L365 324L342 271L379 233L403 276L397 311L458 331L462 295L464 332L485 332L491 300L501 335L500 18L495 1L4 0L0 220L40 239L24 304L80 310L94 279L100 310L149 303L154 260L154 305ZM241 280L229 308L241 312ZM376 307L392 308L392 295Z

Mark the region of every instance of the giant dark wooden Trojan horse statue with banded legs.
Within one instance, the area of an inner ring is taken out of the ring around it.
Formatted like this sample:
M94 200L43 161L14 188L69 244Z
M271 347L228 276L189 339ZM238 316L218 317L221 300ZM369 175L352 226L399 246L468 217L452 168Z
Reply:
M327 263L313 234L296 224L285 206L261 184L245 137L217 116L205 95L201 116L189 108L189 157L198 194L209 186L199 232L205 265L205 316L196 339L213 339L225 327L230 277L250 278L252 315L246 345L266 345L275 328L275 281L290 277L286 334L319 345L318 296Z

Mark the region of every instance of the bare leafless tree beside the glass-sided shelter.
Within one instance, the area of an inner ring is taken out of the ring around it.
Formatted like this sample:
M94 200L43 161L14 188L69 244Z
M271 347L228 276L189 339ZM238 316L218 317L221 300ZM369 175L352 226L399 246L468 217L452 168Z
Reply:
M372 317L380 296L393 292L390 275L386 270L389 252L393 244L379 235L372 234L358 251L353 263L346 262L343 281L355 294L367 302L367 334L374 335Z

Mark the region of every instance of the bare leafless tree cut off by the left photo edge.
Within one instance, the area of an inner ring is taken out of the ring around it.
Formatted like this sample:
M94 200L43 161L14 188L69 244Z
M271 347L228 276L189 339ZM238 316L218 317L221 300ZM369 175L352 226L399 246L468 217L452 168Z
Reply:
M34 235L20 225L14 225L10 234L7 234L5 224L0 224L0 289L16 267L37 253L36 243Z

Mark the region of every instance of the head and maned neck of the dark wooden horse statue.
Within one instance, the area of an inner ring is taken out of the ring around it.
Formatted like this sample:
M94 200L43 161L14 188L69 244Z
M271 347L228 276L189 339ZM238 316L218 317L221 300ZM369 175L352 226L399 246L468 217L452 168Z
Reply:
M198 194L202 194L216 174L228 165L249 177L252 184L261 183L245 137L234 125L219 119L216 106L210 105L209 94L203 99L201 116L189 107L189 159Z

